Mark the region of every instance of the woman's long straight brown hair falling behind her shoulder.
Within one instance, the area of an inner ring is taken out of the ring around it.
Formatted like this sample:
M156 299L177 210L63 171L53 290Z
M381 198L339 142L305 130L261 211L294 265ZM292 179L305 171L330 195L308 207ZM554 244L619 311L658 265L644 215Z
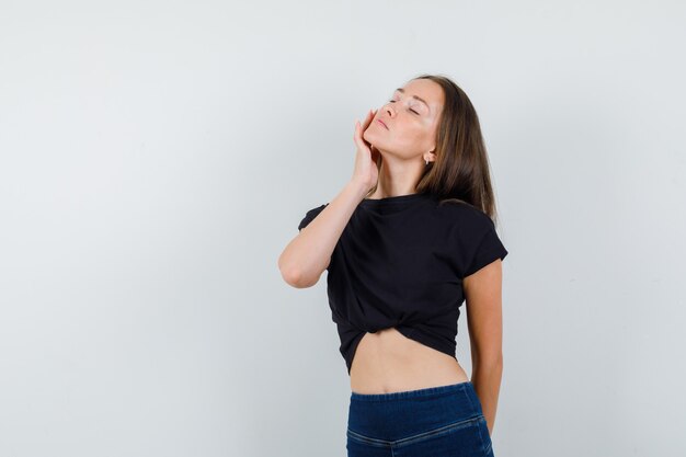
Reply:
M467 203L496 220L489 158L479 116L471 101L453 80L441 75L421 75L443 88L445 103L436 132L436 160L428 162L416 184L418 193L435 195L441 205ZM381 160L378 162L380 168ZM378 183L377 183L378 185ZM375 185L368 195L371 195Z

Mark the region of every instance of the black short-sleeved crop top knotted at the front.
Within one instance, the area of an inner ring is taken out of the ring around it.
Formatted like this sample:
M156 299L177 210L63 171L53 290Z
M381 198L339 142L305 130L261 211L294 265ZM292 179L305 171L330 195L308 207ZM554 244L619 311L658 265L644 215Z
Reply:
M308 210L298 230L327 205ZM462 278L505 255L491 218L466 203L419 193L363 199L327 267L348 376L365 332L391 327L455 357Z

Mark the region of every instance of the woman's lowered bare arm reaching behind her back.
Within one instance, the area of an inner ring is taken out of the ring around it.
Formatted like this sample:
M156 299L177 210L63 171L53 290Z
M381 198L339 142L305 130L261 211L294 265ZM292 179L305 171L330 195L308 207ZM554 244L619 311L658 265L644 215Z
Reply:
M467 325L471 345L471 381L493 433L503 374L502 261L465 277Z

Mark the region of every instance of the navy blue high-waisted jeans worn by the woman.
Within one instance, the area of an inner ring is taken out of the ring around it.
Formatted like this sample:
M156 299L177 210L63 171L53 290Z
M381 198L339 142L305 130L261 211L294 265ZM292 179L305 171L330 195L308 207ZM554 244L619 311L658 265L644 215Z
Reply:
M471 381L391 393L351 392L348 457L494 457Z

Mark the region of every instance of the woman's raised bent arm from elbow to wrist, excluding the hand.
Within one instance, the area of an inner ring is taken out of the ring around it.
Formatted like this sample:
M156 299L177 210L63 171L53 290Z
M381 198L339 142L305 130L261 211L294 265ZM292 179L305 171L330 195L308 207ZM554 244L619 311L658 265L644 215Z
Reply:
M348 182L312 221L286 245L278 270L293 287L311 287L329 266L331 253L367 190Z

